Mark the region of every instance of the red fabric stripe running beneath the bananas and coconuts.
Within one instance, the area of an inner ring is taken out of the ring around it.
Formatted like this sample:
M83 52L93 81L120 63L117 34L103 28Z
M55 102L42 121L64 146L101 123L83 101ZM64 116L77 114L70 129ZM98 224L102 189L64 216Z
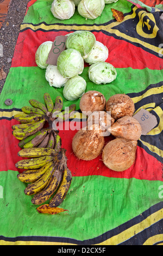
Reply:
M11 121L0 120L0 155L1 155L1 169L2 170L22 170L15 167L15 163L23 159L17 156L18 151L21 149L18 147L18 140L12 135L11 126L17 124L18 122L14 119ZM68 130L71 127L71 130ZM76 129L74 130L73 129ZM102 161L102 155L98 156L92 161L78 160L74 156L72 151L72 139L76 134L77 130L82 127L82 123L68 123L66 122L66 127L64 125L64 130L60 126L59 135L62 139L62 148L66 149L67 165L71 169L73 176L88 176L88 175L102 175L106 177L114 178L136 178L141 180L161 180L162 178L162 166L161 163L155 159L155 157L146 153L140 147L137 147L136 151L136 161L133 166L124 172L114 172L109 168L105 167ZM66 130L67 129L67 130ZM73 129L73 130L72 130ZM68 138L68 139L67 139ZM113 139L112 136L105 137L105 143Z

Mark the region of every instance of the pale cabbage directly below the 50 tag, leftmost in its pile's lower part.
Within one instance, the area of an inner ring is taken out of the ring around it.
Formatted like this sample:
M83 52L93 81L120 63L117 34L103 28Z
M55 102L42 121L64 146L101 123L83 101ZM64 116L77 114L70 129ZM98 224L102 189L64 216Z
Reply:
M65 83L68 81L68 78L63 77L57 66L54 65L48 65L46 72L45 72L45 78L49 82L49 86L61 88L65 85Z

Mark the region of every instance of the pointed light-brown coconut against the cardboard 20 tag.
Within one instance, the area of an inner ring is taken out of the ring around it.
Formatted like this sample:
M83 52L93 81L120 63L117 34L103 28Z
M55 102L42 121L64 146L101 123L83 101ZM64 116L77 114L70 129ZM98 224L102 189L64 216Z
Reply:
M108 131L115 137L137 141L142 133L142 128L134 117L122 117L118 119Z

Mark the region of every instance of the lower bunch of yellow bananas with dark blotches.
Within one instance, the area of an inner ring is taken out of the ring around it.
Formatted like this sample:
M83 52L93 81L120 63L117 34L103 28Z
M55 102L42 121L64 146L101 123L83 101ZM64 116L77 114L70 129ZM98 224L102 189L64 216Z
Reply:
M20 160L16 167L24 169L17 178L28 182L24 193L34 195L32 203L43 204L50 200L49 207L57 207L62 203L70 188L72 174L67 168L66 150L56 153L53 148L26 148L18 152Z

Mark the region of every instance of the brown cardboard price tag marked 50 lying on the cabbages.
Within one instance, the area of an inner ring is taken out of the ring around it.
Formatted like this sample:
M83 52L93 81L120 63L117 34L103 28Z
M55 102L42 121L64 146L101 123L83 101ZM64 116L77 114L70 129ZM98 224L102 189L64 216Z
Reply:
M56 36L51 51L49 52L46 63L56 66L59 54L66 49L67 36Z

